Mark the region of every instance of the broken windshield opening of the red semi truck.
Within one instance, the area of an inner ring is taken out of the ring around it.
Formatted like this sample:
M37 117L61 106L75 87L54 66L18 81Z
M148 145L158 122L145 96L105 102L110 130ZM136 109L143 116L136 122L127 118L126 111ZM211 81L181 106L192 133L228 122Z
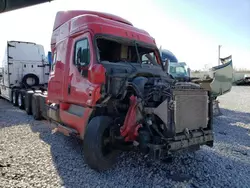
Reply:
M155 49L144 47L134 41L96 39L100 62L128 62L160 66L157 63Z

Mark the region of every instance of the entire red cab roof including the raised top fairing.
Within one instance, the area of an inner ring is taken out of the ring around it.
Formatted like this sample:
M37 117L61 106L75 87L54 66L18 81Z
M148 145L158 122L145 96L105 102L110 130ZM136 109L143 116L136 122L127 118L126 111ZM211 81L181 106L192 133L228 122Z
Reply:
M90 30L93 34L106 34L155 45L154 38L148 32L134 27L129 21L119 16L85 10L57 13L51 45L85 29Z

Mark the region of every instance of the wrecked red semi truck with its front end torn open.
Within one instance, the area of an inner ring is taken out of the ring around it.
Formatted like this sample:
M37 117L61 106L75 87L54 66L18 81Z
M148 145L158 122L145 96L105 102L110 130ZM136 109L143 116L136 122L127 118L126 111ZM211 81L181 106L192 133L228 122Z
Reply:
M51 50L48 88L27 92L25 109L82 139L92 169L110 168L121 149L163 158L213 146L211 93L171 79L146 31L107 13L60 11Z

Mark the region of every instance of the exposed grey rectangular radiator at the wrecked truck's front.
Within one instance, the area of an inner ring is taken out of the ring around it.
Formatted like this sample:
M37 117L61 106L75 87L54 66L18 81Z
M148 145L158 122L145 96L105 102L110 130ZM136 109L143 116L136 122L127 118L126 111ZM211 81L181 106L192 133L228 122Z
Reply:
M206 128L208 124L208 93L201 89L174 90L175 132L181 133L186 128L195 130Z

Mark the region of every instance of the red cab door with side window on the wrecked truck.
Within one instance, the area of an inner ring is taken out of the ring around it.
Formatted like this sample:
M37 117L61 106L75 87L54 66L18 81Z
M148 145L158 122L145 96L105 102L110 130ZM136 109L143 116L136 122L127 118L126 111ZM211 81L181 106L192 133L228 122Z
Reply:
M90 39L90 33L72 39L73 49L66 81L66 102L70 104L87 106L91 97L88 69L93 62L93 46Z

